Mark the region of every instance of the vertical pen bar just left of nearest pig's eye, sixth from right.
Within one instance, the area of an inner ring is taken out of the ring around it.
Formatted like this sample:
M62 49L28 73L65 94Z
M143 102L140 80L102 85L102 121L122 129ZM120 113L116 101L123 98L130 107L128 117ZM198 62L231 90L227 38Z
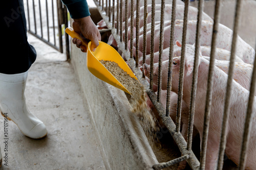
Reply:
M174 57L175 19L176 19L176 0L173 0L172 21L171 21L171 27L170 27L170 48L169 48L166 113L165 113L166 116L169 116L169 111L170 111L170 90L172 89L172 67L173 67L173 57Z

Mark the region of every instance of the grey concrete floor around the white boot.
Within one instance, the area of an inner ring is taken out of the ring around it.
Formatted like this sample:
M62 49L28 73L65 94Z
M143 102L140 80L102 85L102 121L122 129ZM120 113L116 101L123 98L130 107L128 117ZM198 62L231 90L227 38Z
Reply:
M0 169L105 169L79 83L66 56L31 35L37 60L29 70L29 109L47 126L42 139L24 136L8 121L8 166ZM4 118L0 118L4 155Z

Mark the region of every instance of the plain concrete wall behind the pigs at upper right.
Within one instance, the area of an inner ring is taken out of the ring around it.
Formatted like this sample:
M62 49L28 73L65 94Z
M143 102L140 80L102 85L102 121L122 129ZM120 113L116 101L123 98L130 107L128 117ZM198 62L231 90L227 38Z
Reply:
M238 35L255 49L256 42L256 1L243 0L241 10L241 25ZM190 6L198 7L198 2L191 2ZM223 25L233 30L235 0L221 1L221 21ZM214 18L215 1L204 1L204 12Z

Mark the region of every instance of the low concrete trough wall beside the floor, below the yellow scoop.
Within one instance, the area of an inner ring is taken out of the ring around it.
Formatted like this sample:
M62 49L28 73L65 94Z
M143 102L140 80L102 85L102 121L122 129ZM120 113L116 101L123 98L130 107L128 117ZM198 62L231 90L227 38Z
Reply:
M108 169L152 169L158 163L123 91L94 77L86 53L71 45L71 63L81 84L86 106Z

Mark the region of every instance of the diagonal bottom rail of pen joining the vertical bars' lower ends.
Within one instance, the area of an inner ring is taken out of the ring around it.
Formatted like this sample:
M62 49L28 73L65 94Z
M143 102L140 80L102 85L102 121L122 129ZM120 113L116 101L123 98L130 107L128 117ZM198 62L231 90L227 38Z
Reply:
M94 2L97 5L97 8L100 12L101 17L104 19L104 21L106 21L106 25L108 26L108 28L112 28L112 35L116 39L119 49L123 52L123 55L125 56L126 60L129 61L129 64L130 64L132 70L135 72L135 74L136 74L137 78L139 79L139 81L141 82L141 84L143 84L143 86L147 92L147 95L150 97L151 101L153 102L153 105L156 107L161 119L163 120L164 125L166 125L166 128L168 129L170 134L173 136L181 153L183 155L186 155L186 154L189 155L189 159L187 160L187 162L192 169L199 169L200 163L199 163L197 157L195 156L193 151L191 151L191 150L189 151L186 149L186 145L187 145L186 141L180 132L176 132L176 126L175 126L172 118L170 118L169 116L165 116L165 109L163 108L163 106L160 102L157 102L157 95L155 94L155 92L153 90L151 90L149 88L150 84L145 79L142 79L142 72L139 68L136 67L135 60L133 58L131 58L131 55L130 55L131 53L129 51L125 51L124 43L119 40L120 36L116 33L116 29L113 29L111 23L108 22L108 17L106 17L104 14L102 14L102 10L100 9L100 6L98 5L98 3L95 0L94 0ZM132 4L133 4L133 0L131 0L131 5Z

